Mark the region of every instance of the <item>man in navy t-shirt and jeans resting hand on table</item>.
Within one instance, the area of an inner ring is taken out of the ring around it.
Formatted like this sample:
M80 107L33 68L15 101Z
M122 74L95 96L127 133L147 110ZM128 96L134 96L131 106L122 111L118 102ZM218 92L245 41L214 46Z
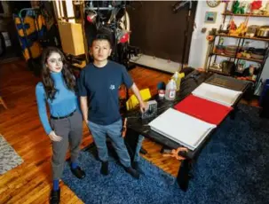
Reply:
M126 68L107 59L111 51L109 37L97 35L91 46L94 61L83 68L78 83L83 120L87 122L98 149L100 173L108 175L108 136L126 172L138 178L139 172L131 168L131 159L122 137L123 122L119 112L118 87L124 83L128 89L131 88L138 98L142 112L146 111L147 104L142 100L138 87L132 82Z

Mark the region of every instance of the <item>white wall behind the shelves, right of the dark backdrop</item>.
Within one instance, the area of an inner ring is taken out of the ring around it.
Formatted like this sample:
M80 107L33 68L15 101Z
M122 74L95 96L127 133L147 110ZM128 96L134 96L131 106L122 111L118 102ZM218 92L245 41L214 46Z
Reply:
M263 1L264 4L266 1ZM217 29L221 25L223 21L223 16L221 15L222 12L225 10L225 4L219 4L217 8L210 8L206 1L199 1L197 5L197 11L195 16L195 23L196 28L194 28L194 33L192 37L192 43L191 43L191 49L190 49L190 55L189 55L189 66L191 67L204 67L205 59L206 59L206 52L208 48L208 42L206 40L206 35L210 31L212 27L216 27ZM218 12L218 17L216 20L216 23L214 24L207 24L204 23L205 13L206 12ZM239 25L245 18L244 17L234 17L234 21L236 25ZM230 17L227 16L225 20L225 27L227 23L229 22ZM269 18L249 18L249 25L269 25ZM205 34L202 34L201 30L202 27L207 28L207 32ZM234 38L225 38L224 44L234 44L237 43L237 39ZM250 46L258 47L258 48L265 48L264 42L255 42L251 41ZM224 60L223 57L218 57L217 62ZM248 62L250 64L255 64L255 62ZM263 73L261 76L264 80L269 78L269 59L266 60L265 67L263 69Z

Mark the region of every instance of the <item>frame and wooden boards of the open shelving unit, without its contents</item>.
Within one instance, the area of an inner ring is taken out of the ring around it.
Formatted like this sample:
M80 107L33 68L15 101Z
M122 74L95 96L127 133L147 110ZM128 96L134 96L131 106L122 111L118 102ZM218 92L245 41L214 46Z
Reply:
M253 18L260 18L260 17L269 18L269 15L233 14L231 12L223 12L222 15L224 16L223 25L225 23L226 16L232 16L232 15L233 16L241 16L241 17L249 17L249 18L252 18L252 17ZM236 51L235 51L234 55L228 55L228 54L225 54L225 53L216 53L216 52L214 52L215 46L220 44L220 38L221 37L237 38L238 39L238 43L235 44L237 47L236 47ZM217 39L218 39L218 43L216 44ZM264 59L253 59L253 58L238 57L238 53L241 52L241 48L244 46L244 43L245 43L246 40L260 41L260 42L266 43ZM257 84L260 81L260 75L263 72L263 68L265 66L265 62L266 62L266 59L268 58L268 55L269 55L269 38L261 38L261 37L257 37L257 36L249 37L249 36L239 36L239 35L227 35L227 34L224 34L224 33L218 33L218 34L215 35L214 40L213 40L213 46L211 46L211 49L210 49L209 63L207 65L207 71L218 73L220 75L235 76L233 74L223 73L223 72L218 71L216 69L210 69L212 61L213 61L213 63L216 63L217 56L228 58L228 61L233 62L235 67L238 67L238 63L239 63L240 60L247 60L247 61L256 62L256 63L258 63L260 65L260 67L258 69L257 79L256 79L256 81L249 80L251 82L254 82L254 90L256 90L257 89Z

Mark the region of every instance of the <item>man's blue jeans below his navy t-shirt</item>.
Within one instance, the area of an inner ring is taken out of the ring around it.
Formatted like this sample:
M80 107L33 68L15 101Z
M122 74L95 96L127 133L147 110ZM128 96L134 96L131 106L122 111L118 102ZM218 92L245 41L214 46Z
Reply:
M93 122L88 122L88 127L91 129L91 135L94 143L97 146L100 161L108 161L107 153L107 135L112 140L112 145L115 152L118 154L121 163L124 167L131 167L131 159L122 137L123 121L118 120L110 125L99 125Z

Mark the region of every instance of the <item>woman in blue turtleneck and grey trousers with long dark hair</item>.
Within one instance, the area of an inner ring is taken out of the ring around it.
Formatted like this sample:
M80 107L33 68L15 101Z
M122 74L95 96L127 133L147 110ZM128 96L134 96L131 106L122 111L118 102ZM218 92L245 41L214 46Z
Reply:
M36 85L38 113L46 134L52 141L53 189L51 203L59 203L59 179L62 176L68 145L71 151L71 171L75 177L85 177L77 157L83 135L83 118L75 95L75 77L67 67L59 49L50 47L43 52L42 82ZM50 107L48 120L46 103Z

